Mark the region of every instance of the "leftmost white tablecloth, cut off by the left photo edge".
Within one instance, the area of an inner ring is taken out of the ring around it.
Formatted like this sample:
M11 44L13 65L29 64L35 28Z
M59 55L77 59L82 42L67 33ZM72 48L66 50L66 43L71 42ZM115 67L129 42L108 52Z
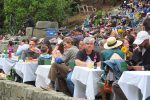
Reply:
M3 69L5 74L10 74L11 68L16 64L18 60L9 58L0 58L0 69Z

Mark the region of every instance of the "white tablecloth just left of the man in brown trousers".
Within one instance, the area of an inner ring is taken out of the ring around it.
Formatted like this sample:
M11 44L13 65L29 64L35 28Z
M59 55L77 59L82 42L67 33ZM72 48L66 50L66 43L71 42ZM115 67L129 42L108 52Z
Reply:
M36 87L47 87L50 83L50 80L48 79L48 73L50 70L51 65L39 65L36 70Z

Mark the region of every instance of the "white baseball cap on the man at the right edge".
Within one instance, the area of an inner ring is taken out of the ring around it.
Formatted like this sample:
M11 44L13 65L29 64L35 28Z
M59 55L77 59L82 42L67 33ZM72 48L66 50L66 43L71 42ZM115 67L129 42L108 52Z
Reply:
M150 39L150 35L148 34L148 32L146 32L146 31L140 31L137 34L137 37L136 37L135 41L133 42L133 44L139 45L139 44L141 44L146 39Z

